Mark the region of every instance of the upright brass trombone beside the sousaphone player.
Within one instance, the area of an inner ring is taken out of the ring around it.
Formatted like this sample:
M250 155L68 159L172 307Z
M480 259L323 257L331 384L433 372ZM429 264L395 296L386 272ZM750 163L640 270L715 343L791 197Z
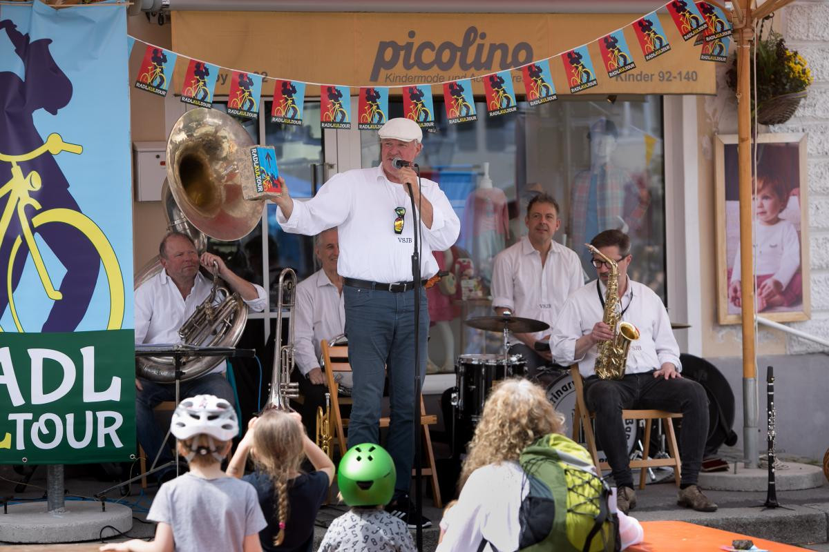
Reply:
M264 410L275 408L290 412L290 399L299 396L299 384L291 382L293 371L293 310L296 306L297 273L285 268L279 273L279 300L276 304L276 334L274 335L274 374L270 382L270 396ZM285 300L288 295L288 300ZM288 340L282 344L282 310L288 309Z

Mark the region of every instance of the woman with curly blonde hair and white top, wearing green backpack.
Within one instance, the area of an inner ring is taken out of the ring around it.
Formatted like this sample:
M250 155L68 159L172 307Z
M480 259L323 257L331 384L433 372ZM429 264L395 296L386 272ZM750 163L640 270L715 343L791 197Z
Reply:
M564 416L541 386L523 379L497 385L469 444L458 501L447 507L440 521L437 552L518 550L518 513L530 490L518 458L536 439L563 429ZM642 540L642 526L621 512L619 530L623 548ZM482 543L487 546L480 548Z

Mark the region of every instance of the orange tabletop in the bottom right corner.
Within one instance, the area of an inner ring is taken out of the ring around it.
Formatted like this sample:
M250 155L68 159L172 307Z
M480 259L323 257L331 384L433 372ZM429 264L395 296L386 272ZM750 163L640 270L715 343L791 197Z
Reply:
M749 539L763 550L773 552L802 552L799 546L783 545L773 540L755 539L752 536L731 533L721 529L697 526L686 521L642 521L645 541L629 547L628 552L700 552L721 550L735 539Z

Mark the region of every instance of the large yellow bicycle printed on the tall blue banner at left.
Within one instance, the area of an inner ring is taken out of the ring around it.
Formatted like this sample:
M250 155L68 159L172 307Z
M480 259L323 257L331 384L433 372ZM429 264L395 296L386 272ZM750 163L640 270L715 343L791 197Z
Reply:
M24 175L18 163L35 159L47 151L53 156L61 153L61 151L68 151L80 155L83 147L78 144L64 142L60 134L53 132L46 138L46 142L43 145L27 153L7 155L0 152L0 161L5 161L12 165L12 179L0 187L0 198L8 196L2 216L0 216L0 237L5 238L9 231L12 217L15 215L17 215L21 228L20 234L12 242L11 252L9 253L7 261L8 270L6 282L4 282L5 286L7 286L8 308L12 314L14 325L18 332L26 331L21 323L14 295L12 294L14 290L12 266L15 264L15 259L24 241L26 242L29 255L32 256L32 262L35 265L37 275L40 277L41 285L46 292L46 296L53 301L63 299L63 294L56 290L52 284L52 278L46 268L46 263L43 261L43 256L35 240L34 233L38 228L44 227L47 224L64 224L69 228L74 228L85 239L89 240L92 247L95 248L96 256L103 263L109 292L109 314L106 329L119 329L124 319L124 280L121 275L118 258L115 257L115 252L109 240L98 225L85 214L74 209L64 208L41 210L41 204L30 196L31 192L41 189L41 175L36 170L32 170L27 175ZM33 216L27 214L27 208L32 208L35 211ZM5 330L0 327L0 332L2 331Z

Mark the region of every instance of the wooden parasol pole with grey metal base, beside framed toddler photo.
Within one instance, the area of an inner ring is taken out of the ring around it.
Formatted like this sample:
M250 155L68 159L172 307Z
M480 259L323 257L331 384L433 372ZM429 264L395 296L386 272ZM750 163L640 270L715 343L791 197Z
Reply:
M754 236L751 179L750 43L754 39L751 2L736 0L744 9L744 26L737 31L737 128L739 167L739 262L743 313L743 441L745 467L755 468L758 444L757 366L754 358Z

